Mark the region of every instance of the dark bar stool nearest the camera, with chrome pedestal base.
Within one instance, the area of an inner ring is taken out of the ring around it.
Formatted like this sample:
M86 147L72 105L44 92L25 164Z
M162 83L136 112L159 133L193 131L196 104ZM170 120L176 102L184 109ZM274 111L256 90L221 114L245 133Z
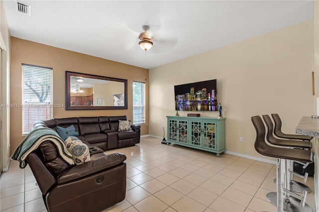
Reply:
M256 140L254 143L258 153L277 158L277 212L292 211L292 212L311 212L312 209L306 204L307 191L300 196L290 191L290 184L287 183L286 167L290 163L289 160L297 160L304 163L312 163L314 154L312 151L304 149L281 148L267 144L265 140L266 128L260 116L251 117L253 125L256 129ZM271 193L269 193L271 194ZM275 193L276 194L276 193ZM292 197L291 195L298 197ZM270 195L273 196L273 195ZM267 199L275 205L274 200Z

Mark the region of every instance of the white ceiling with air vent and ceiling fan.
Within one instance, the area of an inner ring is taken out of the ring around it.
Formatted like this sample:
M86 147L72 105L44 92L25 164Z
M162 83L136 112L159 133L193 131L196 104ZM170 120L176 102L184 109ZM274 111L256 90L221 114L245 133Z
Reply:
M10 35L143 68L313 19L313 0L3 0ZM142 25L155 41L138 45Z

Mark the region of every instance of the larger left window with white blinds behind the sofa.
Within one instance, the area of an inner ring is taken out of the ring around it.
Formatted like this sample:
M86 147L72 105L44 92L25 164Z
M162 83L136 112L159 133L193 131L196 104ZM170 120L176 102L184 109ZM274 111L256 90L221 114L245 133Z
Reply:
M52 68L22 64L22 134L52 118Z

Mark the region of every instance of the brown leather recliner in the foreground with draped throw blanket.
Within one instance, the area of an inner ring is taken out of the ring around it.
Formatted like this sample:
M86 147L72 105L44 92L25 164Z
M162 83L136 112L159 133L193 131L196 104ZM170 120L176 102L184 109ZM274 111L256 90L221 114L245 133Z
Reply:
M99 212L125 199L126 156L92 146L90 153L90 161L70 166L45 141L27 156L49 212Z

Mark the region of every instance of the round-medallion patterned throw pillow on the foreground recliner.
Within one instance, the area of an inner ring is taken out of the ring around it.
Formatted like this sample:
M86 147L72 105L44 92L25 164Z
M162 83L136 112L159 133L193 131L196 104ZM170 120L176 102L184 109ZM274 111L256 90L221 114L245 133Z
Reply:
M72 154L74 163L76 165L80 165L91 160L89 147L78 137L67 137L65 140L65 145L67 150Z

